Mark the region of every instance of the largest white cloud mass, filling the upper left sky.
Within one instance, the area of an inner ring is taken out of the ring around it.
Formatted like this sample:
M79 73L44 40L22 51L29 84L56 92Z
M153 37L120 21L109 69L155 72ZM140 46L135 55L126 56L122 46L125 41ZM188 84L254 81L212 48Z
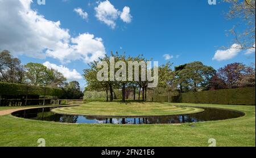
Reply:
M105 54L102 39L84 33L71 37L60 22L47 20L32 10L31 0L0 0L0 49L14 55L47 56L61 62L91 62Z

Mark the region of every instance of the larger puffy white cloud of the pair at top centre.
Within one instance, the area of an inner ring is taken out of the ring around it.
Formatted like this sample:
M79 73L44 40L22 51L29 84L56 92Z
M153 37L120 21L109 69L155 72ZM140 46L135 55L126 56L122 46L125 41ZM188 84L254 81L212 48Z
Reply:
M94 10L98 20L115 28L115 20L119 16L119 11L108 0L100 2Z

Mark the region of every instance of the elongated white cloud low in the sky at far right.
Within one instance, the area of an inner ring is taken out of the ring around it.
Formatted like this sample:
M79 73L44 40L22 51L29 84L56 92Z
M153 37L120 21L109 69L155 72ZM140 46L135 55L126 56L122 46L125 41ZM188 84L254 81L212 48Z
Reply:
M229 48L229 49L217 50L212 59L217 60L217 61L224 61L224 60L232 59L232 58L236 57L236 55L242 51L240 48L241 48L240 45L233 44L231 46L231 48Z

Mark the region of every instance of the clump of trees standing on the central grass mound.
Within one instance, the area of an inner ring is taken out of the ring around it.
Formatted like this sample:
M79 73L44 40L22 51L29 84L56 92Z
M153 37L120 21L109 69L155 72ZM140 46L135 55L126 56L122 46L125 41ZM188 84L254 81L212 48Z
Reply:
M126 99L126 92L129 89L133 89L134 91L134 100L135 100L135 93L138 90L138 100L140 100L142 98L143 101L145 101L147 99L147 89L148 89L148 80L141 80L141 67L139 69L139 81L129 81L128 78L126 78L125 81L110 81L110 74L109 76L109 80L108 81L99 81L97 79L97 73L98 71L101 70L101 68L98 68L97 65L100 62L106 62L108 63L108 69L110 70L110 57L114 57L114 61L118 62L118 61L123 61L126 63L126 73L127 74L123 74L123 75L128 75L128 62L129 61L137 61L138 63L141 61L147 62L148 59L144 58L143 55L138 55L137 57L130 57L127 56L125 54L121 54L119 55L118 53L111 53L110 56L105 55L104 58L100 58L99 61L94 61L93 63L89 64L89 69L85 69L84 70L84 78L87 82L87 87L85 90L87 91L105 91L106 92L106 100L107 101L113 101L114 99L114 92L113 89L122 89L122 101L125 101ZM168 69L170 68L170 63L167 63L165 66L168 67ZM146 65L147 67L147 65ZM162 69L161 66L160 69ZM119 68L115 68L114 69L114 73L117 72L119 70ZM133 67L133 71L134 71L134 67ZM159 75L160 80L161 77L166 77L166 75ZM169 77L169 76L168 76ZM109 95L110 93L110 95ZM109 98L110 96L110 98Z

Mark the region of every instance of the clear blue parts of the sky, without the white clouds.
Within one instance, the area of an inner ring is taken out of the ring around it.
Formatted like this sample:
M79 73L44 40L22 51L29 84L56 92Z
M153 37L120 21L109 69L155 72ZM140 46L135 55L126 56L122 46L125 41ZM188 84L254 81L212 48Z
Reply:
M95 8L101 2L104 1L46 0L46 5L38 5L34 0L30 3L30 10L36 11L37 15L43 15L49 21L60 21L59 27L68 29L73 38L82 33L101 38L107 54L110 51L126 52L133 56L143 54L160 64L171 61L175 66L201 61L214 69L232 62L249 64L255 60L255 53L245 55L244 52L221 61L212 59L217 50L223 49L222 46L234 44L233 36L226 36L226 33L238 21L225 18L229 7L226 3L218 3L218 0L217 5L209 5L208 0L110 0L109 3L118 11L118 17L113 20L115 27L112 28L96 17ZM130 8L129 22L120 18L125 6ZM81 8L88 17L83 19L74 11L75 8ZM0 45L0 49L8 48L6 45ZM15 51L13 50L14 54ZM82 59L66 62L67 59L61 61L59 57L53 56L34 57L33 54L27 55L26 51L16 54L22 63L48 61L57 66L63 65L71 71L76 69L80 74L88 67ZM164 54L173 58L166 60ZM78 80L85 84L83 79Z

